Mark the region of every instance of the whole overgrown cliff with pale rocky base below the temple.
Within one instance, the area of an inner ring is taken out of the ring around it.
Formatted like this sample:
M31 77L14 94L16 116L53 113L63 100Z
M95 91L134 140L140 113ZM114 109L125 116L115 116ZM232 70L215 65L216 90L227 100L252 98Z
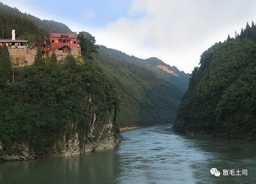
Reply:
M14 68L0 81L0 161L58 157L113 148L119 139L117 99L91 61L67 56Z

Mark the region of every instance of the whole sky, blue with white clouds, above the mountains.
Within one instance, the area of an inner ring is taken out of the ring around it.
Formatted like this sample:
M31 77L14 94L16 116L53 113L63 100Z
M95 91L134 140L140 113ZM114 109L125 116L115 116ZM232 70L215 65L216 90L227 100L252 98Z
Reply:
M1 0L21 12L86 31L96 43L191 73L200 55L246 22L256 22L255 0Z

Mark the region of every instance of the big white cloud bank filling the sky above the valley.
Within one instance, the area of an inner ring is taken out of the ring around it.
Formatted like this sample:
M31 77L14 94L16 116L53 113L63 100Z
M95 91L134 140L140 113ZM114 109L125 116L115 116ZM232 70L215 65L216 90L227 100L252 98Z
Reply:
M89 30L97 43L191 72L200 55L251 21L256 1L133 0L128 16Z

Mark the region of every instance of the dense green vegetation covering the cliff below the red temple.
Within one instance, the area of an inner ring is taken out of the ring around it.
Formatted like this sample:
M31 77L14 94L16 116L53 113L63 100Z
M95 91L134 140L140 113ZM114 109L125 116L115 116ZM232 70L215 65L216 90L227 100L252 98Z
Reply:
M19 151L16 146L27 143L36 154L48 154L52 147L59 147L64 135L65 141L75 132L80 141L88 135L91 106L97 106L105 119L106 112L117 109L115 91L97 63L79 64L72 56L56 63L41 58L39 51L34 65L14 69L15 83L0 81L2 152ZM118 134L116 121L113 126Z

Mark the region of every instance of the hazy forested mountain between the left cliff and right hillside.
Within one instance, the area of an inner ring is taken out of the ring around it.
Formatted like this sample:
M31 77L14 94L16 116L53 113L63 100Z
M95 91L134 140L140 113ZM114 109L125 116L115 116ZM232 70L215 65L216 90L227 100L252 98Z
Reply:
M93 58L110 76L119 96L120 126L174 123L188 74L157 58L143 60L105 46L100 46L98 52ZM159 69L160 64L174 70L176 75Z

